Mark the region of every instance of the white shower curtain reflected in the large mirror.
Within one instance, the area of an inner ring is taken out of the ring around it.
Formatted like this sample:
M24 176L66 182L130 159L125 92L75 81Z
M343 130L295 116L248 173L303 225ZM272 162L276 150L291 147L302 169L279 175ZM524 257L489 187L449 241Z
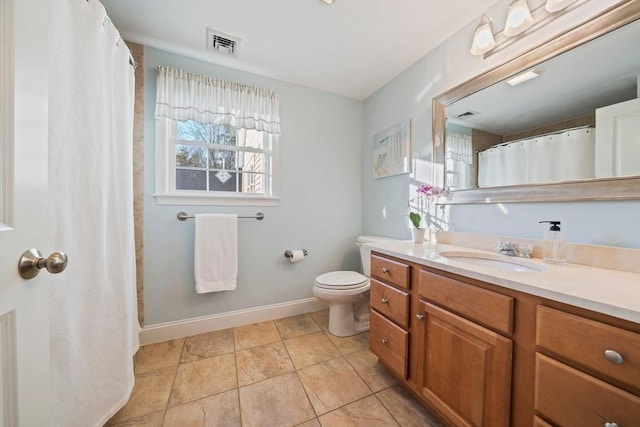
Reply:
M595 130L571 129L493 147L478 155L478 186L595 177Z

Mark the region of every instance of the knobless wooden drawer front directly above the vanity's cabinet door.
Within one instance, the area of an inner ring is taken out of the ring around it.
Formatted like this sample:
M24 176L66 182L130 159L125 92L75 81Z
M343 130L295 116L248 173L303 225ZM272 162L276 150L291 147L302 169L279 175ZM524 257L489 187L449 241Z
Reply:
M513 332L513 298L421 270L420 296L507 335Z

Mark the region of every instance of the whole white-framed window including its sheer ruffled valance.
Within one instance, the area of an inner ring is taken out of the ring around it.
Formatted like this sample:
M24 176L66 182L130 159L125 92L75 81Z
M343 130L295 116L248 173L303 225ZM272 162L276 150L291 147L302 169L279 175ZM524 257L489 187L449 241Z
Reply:
M158 67L159 204L275 205L274 92Z

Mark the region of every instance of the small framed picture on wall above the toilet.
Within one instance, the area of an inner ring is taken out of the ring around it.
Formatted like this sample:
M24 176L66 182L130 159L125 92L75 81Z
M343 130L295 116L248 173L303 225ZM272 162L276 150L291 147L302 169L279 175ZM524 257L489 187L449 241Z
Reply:
M411 172L411 120L404 120L373 136L373 177Z

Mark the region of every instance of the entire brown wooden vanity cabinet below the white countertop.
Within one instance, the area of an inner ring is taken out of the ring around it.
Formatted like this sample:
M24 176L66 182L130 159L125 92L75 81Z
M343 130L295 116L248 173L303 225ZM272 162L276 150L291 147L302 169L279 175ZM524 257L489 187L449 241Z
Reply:
M370 348L447 425L640 426L639 324L375 251L371 265Z

